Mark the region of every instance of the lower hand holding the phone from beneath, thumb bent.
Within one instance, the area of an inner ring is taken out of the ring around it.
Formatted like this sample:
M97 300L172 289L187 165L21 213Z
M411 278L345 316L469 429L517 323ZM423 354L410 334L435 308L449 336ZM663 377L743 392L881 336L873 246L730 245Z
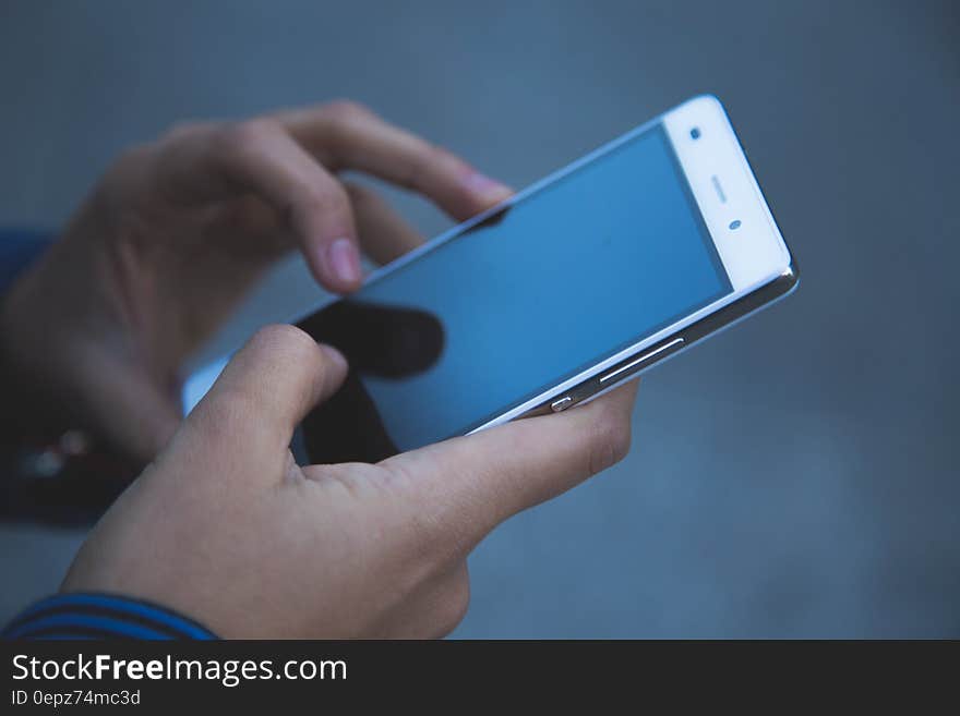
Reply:
M375 465L300 466L293 429L345 372L297 328L260 331L62 588L148 599L225 638L439 636L466 611L466 557L487 533L629 447L635 381Z

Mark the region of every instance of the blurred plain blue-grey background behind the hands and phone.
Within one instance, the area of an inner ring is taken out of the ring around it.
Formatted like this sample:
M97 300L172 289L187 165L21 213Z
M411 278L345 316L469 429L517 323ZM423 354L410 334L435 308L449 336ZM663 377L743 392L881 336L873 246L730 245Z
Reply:
M648 375L631 456L480 546L455 635L958 636L950 5L0 0L0 223L183 118L352 97L523 186L715 93L801 289ZM313 298L281 266L218 343ZM0 530L0 620L82 537Z

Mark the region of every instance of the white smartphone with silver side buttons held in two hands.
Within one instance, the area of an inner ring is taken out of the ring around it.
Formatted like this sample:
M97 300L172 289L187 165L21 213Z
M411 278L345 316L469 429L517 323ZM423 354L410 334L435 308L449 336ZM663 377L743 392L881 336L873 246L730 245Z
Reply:
M695 97L295 319L350 363L303 423L308 457L574 409L796 283L723 107ZM185 381L188 411L224 365Z

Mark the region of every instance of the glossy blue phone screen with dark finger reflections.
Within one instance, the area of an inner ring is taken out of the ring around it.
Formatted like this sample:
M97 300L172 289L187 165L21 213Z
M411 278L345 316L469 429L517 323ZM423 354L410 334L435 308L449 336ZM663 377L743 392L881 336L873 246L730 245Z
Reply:
M351 366L308 453L464 435L731 291L655 124L302 320Z

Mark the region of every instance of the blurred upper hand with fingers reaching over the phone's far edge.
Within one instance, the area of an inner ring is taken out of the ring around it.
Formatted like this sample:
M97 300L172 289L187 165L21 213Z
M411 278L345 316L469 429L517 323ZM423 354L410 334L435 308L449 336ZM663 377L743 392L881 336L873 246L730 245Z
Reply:
M343 170L455 219L509 195L352 102L175 129L107 171L0 306L0 362L29 393L4 410L148 462L180 422L184 359L283 253L299 247L321 283L348 292L362 280L358 247L383 263L420 241L370 190L341 184Z

